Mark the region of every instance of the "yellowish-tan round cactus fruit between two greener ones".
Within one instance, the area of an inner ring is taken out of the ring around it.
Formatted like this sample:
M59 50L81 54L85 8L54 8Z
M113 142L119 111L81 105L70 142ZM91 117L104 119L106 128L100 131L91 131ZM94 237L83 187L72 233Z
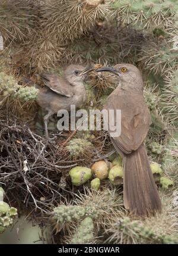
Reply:
M100 180L104 180L108 177L109 167L107 166L105 161L98 161L93 164L93 166L91 167L91 171L93 172L95 177Z

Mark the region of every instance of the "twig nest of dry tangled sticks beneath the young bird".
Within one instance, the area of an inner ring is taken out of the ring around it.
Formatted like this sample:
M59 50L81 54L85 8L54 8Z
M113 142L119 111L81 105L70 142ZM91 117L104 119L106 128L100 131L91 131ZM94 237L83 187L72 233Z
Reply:
M0 185L13 207L21 211L28 208L28 212L36 210L36 217L57 203L71 199L74 188L68 173L72 167L89 167L106 150L107 135L97 136L94 143L97 148L88 149L88 153L91 151L88 158L86 149L85 158L81 158L72 157L64 146L63 138L68 137L69 132L59 135L56 141L47 142L45 136L37 135L28 123L17 122L17 119L0 122L0 127Z

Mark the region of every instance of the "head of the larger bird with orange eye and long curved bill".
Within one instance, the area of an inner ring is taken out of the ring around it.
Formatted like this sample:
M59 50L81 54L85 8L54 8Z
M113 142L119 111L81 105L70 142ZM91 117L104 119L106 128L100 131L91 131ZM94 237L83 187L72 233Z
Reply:
M101 67L96 70L97 72L111 72L119 77L123 82L133 82L135 80L142 80L141 72L135 65L132 64L117 64L114 67Z

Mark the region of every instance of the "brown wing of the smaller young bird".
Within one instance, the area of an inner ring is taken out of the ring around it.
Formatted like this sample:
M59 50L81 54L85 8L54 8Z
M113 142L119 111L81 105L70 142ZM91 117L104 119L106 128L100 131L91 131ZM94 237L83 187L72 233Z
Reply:
M72 86L63 77L45 73L41 74L41 77L45 85L53 90L53 92L66 97L72 97L74 95Z

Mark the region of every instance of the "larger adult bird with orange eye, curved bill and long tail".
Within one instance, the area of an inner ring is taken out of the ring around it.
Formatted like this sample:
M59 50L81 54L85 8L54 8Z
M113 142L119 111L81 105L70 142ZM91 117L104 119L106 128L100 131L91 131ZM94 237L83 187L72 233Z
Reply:
M150 112L143 96L142 75L131 64L98 68L119 77L119 85L109 95L104 109L121 110L121 134L111 137L116 151L123 157L123 199L125 208L138 216L161 211L161 201L151 172L144 139L151 124ZM115 116L116 122L116 116ZM109 134L111 131L109 130Z

